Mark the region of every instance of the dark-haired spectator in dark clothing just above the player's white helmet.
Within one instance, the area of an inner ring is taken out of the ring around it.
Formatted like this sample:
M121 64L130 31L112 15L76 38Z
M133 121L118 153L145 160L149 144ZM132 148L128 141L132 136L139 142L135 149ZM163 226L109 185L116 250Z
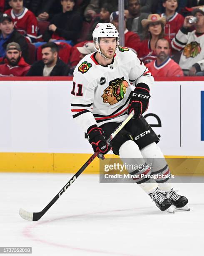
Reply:
M110 22L110 14L115 10L115 7L111 4L105 3L102 5L100 10L100 16L96 17L95 22L93 23L92 28L90 28L90 32L87 35L87 41L93 40L92 33L98 23L108 23Z

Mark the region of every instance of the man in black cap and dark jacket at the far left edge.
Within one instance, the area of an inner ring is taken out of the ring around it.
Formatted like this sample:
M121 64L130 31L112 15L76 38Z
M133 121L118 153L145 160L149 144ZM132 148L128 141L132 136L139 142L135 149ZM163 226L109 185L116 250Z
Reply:
M7 44L16 42L20 45L23 58L29 63L26 39L14 29L12 18L7 14L0 17L0 31L0 59L2 60L6 55Z

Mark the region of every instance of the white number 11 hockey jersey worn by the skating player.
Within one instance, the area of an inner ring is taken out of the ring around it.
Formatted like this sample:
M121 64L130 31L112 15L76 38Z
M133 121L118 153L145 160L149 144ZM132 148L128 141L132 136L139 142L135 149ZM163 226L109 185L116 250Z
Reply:
M130 84L154 82L133 51L119 46L112 64L100 65L95 54L86 55L74 71L71 96L73 118L86 132L94 124L122 122L127 117Z

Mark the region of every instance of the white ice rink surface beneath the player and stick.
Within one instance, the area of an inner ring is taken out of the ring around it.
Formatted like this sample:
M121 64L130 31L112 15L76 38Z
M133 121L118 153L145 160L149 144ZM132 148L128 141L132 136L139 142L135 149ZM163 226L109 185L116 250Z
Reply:
M0 246L29 246L25 255L35 256L204 255L204 184L174 184L191 211L170 214L137 184L100 184L82 174L41 220L20 217L20 207L41 211L70 177L1 173Z

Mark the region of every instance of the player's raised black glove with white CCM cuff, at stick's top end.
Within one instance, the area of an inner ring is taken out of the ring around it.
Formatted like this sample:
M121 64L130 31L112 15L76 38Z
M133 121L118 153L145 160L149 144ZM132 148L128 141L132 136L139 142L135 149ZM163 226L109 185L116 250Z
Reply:
M148 109L149 98L149 87L145 84L137 86L134 91L131 92L131 98L129 100L129 108L127 114L129 115L134 111L134 118L137 119Z

